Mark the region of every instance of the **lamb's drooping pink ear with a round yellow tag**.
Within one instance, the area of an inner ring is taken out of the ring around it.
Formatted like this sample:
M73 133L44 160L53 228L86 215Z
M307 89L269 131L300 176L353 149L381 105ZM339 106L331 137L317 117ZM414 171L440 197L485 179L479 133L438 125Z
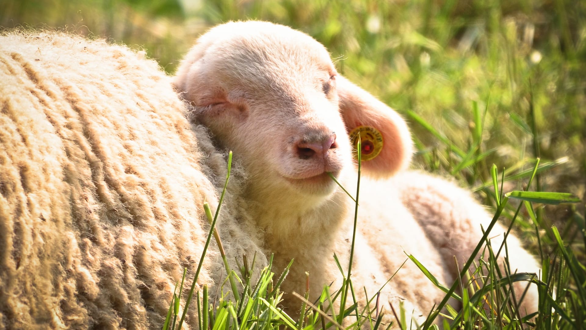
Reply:
M389 177L409 166L413 142L405 120L389 106L342 76L336 77L340 112L350 140L362 140L362 167Z

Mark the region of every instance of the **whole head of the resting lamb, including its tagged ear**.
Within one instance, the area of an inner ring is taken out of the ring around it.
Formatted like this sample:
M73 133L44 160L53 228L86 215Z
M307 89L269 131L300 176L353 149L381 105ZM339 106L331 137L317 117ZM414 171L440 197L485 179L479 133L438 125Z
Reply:
M186 55L175 85L241 159L253 189L327 198L336 187L327 173L343 177L353 168L348 133L358 126L374 127L384 140L378 156L363 162L370 173L389 176L410 160L403 119L340 76L321 43L287 26L216 26Z

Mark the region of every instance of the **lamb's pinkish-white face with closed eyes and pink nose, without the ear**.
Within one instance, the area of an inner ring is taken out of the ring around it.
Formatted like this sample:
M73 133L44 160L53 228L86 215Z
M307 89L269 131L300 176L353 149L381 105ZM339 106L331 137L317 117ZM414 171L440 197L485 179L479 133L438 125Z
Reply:
M244 161L252 184L327 196L335 188L327 173L339 176L352 164L338 73L320 43L282 30L210 45L188 96L201 122Z

